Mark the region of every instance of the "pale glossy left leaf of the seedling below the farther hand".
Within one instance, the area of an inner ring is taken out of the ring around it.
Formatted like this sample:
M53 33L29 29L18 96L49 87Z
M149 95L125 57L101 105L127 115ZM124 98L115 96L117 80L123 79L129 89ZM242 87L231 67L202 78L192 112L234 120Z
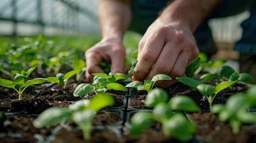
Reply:
M88 83L81 83L80 85L76 86L75 91L73 92L74 97L81 97L85 94L88 94L95 90L95 87L88 84Z

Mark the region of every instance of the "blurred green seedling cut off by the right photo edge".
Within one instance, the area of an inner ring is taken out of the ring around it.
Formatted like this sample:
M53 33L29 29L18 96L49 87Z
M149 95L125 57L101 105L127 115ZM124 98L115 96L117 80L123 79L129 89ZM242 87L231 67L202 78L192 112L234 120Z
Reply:
M218 114L221 121L229 122L233 133L237 134L243 123L256 123L256 114L248 112L256 105L255 92L256 86L251 86L246 93L232 95L225 105L213 105L211 113Z

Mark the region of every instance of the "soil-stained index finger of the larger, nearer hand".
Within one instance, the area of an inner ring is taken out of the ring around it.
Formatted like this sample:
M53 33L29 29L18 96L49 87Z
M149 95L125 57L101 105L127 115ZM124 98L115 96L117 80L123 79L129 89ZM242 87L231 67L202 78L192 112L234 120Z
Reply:
M132 74L132 80L142 82L145 79L153 64L156 62L156 59L159 57L164 43L165 36L159 32L155 32L147 38L140 57L138 57L138 63Z

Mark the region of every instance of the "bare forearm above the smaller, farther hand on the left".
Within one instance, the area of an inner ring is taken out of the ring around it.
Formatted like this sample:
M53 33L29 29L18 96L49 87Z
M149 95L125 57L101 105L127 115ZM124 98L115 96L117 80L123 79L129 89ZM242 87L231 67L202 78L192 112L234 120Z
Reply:
M122 40L131 20L129 5L116 0L101 0L98 6L98 18L103 39Z

